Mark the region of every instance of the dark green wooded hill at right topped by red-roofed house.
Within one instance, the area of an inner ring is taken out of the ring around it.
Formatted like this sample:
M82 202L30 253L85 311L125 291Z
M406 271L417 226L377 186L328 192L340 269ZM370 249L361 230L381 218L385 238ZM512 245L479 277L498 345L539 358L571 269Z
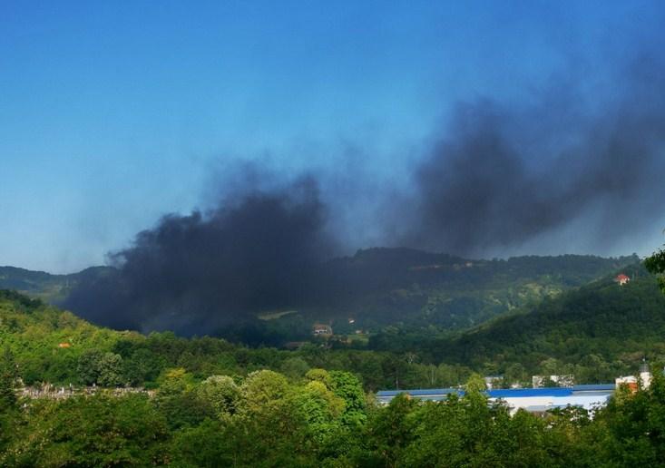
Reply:
M533 372L575 373L595 366L611 378L646 356L665 357L665 296L641 266L627 269L620 286L611 277L521 313L476 327L433 345L435 357L504 370L519 363ZM543 368L546 367L546 368Z

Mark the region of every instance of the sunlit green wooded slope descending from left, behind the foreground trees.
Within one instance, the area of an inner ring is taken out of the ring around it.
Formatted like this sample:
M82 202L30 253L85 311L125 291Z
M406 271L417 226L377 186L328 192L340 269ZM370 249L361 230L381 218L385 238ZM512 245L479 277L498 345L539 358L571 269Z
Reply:
M464 383L465 366L435 365L418 356L310 343L296 351L234 345L213 337L171 332L143 336L94 327L73 314L11 291L0 291L0 343L15 356L24 385L146 386L182 367L196 381L271 369L296 381L312 368L358 375L367 390Z

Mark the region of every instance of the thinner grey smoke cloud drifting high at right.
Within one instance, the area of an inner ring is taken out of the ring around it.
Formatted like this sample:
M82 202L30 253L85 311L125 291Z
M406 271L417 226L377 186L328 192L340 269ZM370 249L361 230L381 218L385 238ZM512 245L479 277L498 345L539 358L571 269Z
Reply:
M478 255L582 216L579 239L603 246L650 226L665 195L665 67L631 64L592 110L561 85L527 105L458 104L416 169L401 243Z

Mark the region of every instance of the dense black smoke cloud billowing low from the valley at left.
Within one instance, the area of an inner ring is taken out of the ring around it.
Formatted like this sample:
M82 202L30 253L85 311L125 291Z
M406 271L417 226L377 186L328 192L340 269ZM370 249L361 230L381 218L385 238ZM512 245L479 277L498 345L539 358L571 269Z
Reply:
M214 330L248 312L293 307L335 246L317 181L264 190L255 171L208 213L171 214L111 255L116 273L85 282L66 306L111 327Z

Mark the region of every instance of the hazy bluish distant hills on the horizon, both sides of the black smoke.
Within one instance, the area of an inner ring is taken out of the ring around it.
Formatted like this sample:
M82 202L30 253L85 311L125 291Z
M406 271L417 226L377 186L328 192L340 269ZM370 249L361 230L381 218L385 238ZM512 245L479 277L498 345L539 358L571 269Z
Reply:
M289 314L280 308L256 310L243 315L239 327L204 333L279 346L307 338L311 325L318 321L331 323L336 334L343 335L357 329L374 332L389 325L464 329L543 297L555 297L638 260L634 255L478 260L416 249L359 250L352 257L320 265L321 290L308 295L311 298L304 303L293 304ZM68 294L76 286L93 284L113 272L113 268L97 267L72 275L49 275L3 267L0 288L62 305L68 304ZM90 317L75 302L68 307L81 317Z

